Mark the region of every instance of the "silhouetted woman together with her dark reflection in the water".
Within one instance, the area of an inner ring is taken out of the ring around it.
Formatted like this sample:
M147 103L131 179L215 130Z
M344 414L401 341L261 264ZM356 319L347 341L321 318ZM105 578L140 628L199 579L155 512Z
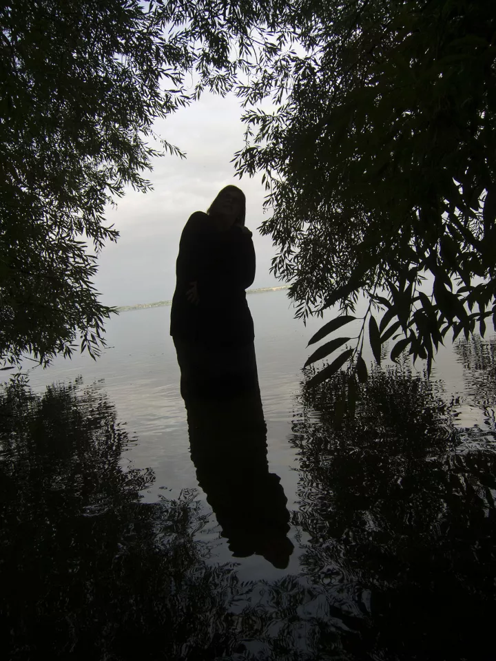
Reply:
M287 567L293 545L287 499L269 472L267 428L258 388L254 324L245 290L255 251L245 196L218 193L180 238L171 335L181 371L196 476L236 557L264 556Z

